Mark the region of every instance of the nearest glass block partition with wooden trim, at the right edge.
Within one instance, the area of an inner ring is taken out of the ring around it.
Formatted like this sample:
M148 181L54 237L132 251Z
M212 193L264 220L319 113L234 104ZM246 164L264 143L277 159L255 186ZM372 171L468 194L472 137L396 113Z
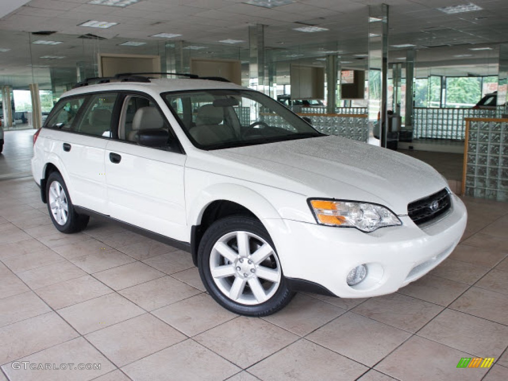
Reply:
M508 201L508 119L467 120L464 194Z

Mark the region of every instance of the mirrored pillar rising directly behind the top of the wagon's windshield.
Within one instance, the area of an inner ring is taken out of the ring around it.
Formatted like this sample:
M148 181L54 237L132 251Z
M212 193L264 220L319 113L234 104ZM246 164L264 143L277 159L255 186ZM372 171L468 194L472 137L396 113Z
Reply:
M265 26L249 26L249 87L270 95L265 56Z

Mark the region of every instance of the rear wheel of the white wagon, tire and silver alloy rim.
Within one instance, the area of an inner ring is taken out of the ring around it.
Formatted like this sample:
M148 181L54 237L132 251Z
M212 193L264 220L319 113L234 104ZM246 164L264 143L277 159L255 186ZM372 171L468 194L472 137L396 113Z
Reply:
M53 225L65 234L76 233L88 224L89 216L74 210L69 190L58 172L52 172L46 181L46 200Z

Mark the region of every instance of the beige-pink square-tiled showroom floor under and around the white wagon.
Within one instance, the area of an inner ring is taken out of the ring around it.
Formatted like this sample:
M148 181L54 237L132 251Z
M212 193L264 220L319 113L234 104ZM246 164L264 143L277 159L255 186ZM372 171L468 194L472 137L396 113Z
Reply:
M60 234L31 179L0 181L0 381L505 381L508 203L465 202L461 244L398 293L298 294L253 319L219 307L187 253L96 220ZM475 356L496 360L456 368Z

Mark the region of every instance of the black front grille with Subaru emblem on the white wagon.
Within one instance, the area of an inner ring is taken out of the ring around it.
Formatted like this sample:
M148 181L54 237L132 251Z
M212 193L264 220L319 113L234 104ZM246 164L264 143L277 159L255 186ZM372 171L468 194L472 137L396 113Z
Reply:
M444 188L407 205L407 214L416 225L422 225L445 213L451 205L450 193Z

